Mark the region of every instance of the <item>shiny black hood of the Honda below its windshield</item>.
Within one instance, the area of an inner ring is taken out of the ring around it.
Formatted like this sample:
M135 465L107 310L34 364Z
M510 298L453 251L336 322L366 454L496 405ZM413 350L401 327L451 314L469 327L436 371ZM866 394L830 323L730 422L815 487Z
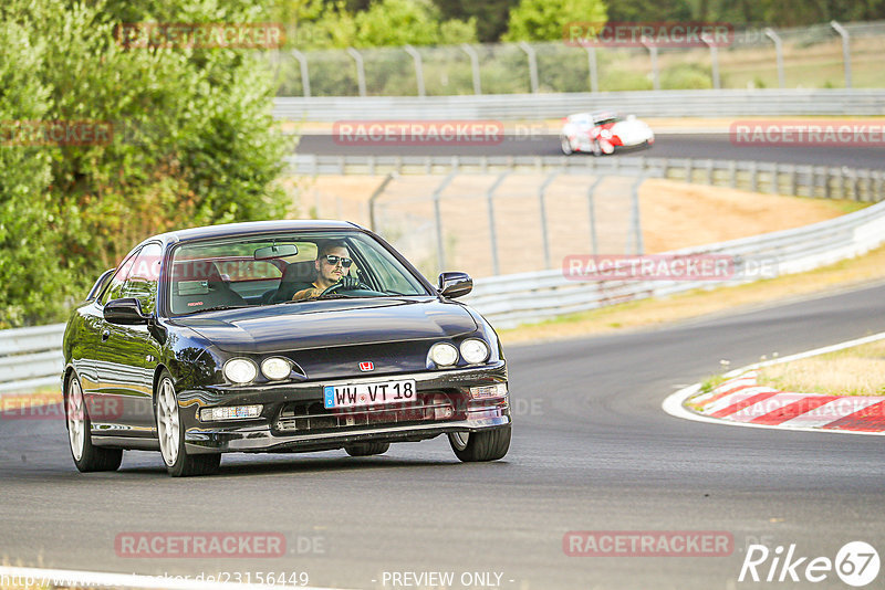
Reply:
M176 318L228 352L271 354L452 338L478 329L461 305L425 299L331 299Z

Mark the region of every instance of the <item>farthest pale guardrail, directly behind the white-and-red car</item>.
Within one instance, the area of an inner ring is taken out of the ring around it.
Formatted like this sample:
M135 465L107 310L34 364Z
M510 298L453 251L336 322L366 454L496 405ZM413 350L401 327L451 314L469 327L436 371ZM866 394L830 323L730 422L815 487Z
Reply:
M617 107L637 117L885 115L885 89L633 91L480 96L278 97L284 120L525 120Z

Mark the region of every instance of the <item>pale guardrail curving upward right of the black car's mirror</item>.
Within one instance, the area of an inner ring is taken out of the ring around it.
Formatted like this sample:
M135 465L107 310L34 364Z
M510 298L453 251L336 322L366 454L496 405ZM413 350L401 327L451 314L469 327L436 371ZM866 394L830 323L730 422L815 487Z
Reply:
M670 252L670 255L725 254L740 263L775 261L777 275L810 271L857 256L885 243L885 202L798 228L719 244ZM735 281L730 284L749 281ZM563 271L542 271L477 281L465 302L498 327L585 312L648 297L709 287L710 281L575 282Z

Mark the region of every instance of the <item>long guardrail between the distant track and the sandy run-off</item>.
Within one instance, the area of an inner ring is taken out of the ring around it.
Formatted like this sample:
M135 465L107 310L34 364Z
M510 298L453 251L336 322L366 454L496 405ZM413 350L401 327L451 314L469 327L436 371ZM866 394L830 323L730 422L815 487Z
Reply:
M850 199L861 202L885 200L885 170L851 169L739 160L696 160L618 156L316 156L295 155L285 159L298 175L448 175L500 173L503 171L546 173L616 175L668 178L799 197Z

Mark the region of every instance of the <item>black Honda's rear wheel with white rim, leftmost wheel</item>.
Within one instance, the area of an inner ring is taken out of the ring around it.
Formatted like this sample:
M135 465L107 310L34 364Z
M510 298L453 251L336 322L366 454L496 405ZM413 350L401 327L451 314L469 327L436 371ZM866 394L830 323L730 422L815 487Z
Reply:
M71 456L76 468L82 473L116 471L123 462L123 450L103 449L92 444L92 422L83 397L83 387L76 373L71 373L67 380L64 415Z

